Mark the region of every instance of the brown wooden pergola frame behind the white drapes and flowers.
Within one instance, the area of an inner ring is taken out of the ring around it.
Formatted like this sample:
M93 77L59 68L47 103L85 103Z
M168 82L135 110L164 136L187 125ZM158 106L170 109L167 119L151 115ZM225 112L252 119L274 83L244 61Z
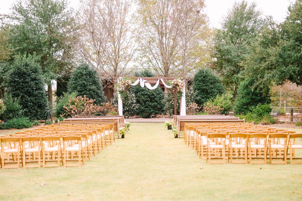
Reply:
M130 79L133 79L134 81L136 81L137 79L139 79L139 78L141 78L141 79L144 79L144 80L146 80L146 83L150 83L150 84L156 84L156 82L157 82L157 80L158 79L164 79L164 82L167 84L167 82L169 81L169 80L173 80L173 79L176 79L176 77L128 77L128 78L130 78ZM117 79L118 79L118 77L115 77L114 78L114 83L115 84L117 84ZM185 83L187 83L187 79L184 79L185 80ZM160 85L160 87L165 87L164 86L164 84L162 83L162 82L159 82L159 85ZM176 114L176 95L177 95L177 90L176 90L176 88L175 87L173 87L173 88L171 88L171 89L169 89L169 88L167 88L169 91L171 91L171 93L174 95L174 115L177 115ZM182 100L180 100L180 104L179 104L179 106L181 107L181 105L182 105L182 103L181 103L181 101ZM181 108L180 108L180 110L181 110Z

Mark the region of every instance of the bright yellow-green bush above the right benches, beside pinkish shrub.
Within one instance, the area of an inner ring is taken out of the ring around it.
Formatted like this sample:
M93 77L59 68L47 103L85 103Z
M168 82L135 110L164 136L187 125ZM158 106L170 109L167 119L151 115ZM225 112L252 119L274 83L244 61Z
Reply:
M221 114L228 115L230 111L233 109L233 103L231 97L226 94L217 95L214 99L207 101L205 104L220 106L223 108Z

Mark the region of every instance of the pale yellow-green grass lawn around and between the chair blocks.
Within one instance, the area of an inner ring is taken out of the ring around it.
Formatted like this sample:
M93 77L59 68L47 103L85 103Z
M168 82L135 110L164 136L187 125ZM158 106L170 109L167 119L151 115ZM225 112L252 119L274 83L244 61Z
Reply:
M302 200L302 165L208 165L164 123L132 123L82 167L0 178L0 200Z

